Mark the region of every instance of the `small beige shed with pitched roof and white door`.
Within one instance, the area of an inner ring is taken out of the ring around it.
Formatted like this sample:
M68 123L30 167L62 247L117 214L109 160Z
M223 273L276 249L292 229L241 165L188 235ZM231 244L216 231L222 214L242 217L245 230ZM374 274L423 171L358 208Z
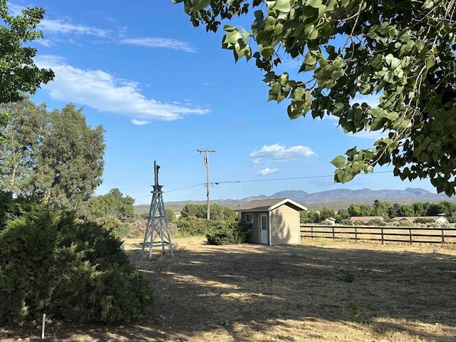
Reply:
M250 229L251 244L301 244L299 212L307 210L289 198L251 201L237 209Z

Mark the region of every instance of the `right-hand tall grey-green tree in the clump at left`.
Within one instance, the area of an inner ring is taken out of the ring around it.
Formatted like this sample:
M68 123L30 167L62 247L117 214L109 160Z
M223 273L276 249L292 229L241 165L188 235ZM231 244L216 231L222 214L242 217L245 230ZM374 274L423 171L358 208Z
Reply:
M44 202L65 209L81 209L103 174L103 128L90 128L82 108L66 105L50 113L50 127L37 155L35 193Z

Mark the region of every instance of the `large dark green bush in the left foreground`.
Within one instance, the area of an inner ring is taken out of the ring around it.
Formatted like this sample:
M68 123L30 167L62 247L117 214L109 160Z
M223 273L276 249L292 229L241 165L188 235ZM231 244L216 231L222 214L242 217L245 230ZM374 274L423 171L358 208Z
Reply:
M0 323L43 313L71 323L134 323L152 301L120 239L71 214L32 210L0 232Z

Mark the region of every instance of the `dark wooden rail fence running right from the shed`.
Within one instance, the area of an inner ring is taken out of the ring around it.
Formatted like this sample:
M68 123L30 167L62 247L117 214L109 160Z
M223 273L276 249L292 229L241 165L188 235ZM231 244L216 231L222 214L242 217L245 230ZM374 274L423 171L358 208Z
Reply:
M456 228L317 226L301 224L301 238L373 240L420 244L456 243Z

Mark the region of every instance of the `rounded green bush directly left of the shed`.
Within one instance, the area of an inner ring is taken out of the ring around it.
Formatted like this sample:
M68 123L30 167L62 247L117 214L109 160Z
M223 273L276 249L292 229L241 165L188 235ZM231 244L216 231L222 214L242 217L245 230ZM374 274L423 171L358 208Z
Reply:
M208 244L242 244L248 234L239 221L216 221L207 230L206 238Z

